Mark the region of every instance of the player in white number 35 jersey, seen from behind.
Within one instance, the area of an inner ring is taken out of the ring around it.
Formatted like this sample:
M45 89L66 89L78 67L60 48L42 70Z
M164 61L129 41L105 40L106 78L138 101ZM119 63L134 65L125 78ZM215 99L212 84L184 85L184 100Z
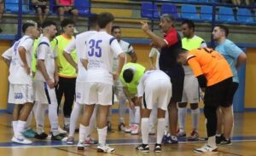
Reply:
M96 104L98 104L97 131L98 152L112 153L114 148L106 144L107 117L109 106L112 105L113 79L119 77L119 73L125 62L125 53L120 48L118 41L108 33L111 32L114 17L110 13L98 15L100 32L87 38L84 49L83 65L87 69L85 93L85 109L79 128L78 149L84 150L84 139L90 131L90 117ZM116 72L112 72L113 55L119 56L119 66Z

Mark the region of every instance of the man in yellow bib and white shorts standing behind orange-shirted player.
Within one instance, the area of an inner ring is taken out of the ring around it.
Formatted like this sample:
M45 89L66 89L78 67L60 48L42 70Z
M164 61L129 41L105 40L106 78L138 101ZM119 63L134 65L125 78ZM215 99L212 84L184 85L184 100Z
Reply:
M183 20L181 24L181 30L183 32L183 49L191 50L198 48L207 48L207 43L200 37L195 35L195 24L192 20ZM197 79L195 78L193 71L189 66L183 66L185 72L184 86L183 86L183 99L181 103L178 103L178 130L177 136L186 136L185 120L187 116L187 104L190 103L191 118L192 118L192 132L190 133L189 140L197 140L198 123L200 109L198 102L200 101L200 88Z

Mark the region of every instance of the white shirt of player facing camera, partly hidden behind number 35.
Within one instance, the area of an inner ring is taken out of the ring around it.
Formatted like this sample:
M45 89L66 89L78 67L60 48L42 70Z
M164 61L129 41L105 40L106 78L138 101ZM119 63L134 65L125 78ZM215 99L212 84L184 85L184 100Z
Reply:
M133 47L131 46L131 43L127 43L123 40L120 40L119 45L126 55L132 55L135 53ZM125 63L127 61L126 55L125 55ZM119 57L118 55L113 55L113 72L117 70L118 66L119 66Z

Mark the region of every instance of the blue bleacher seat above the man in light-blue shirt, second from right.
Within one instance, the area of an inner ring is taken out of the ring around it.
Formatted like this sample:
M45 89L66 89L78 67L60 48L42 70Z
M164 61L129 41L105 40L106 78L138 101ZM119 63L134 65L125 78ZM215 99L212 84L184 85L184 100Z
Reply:
M228 7L220 7L218 9L218 21L224 23L237 23L233 9Z

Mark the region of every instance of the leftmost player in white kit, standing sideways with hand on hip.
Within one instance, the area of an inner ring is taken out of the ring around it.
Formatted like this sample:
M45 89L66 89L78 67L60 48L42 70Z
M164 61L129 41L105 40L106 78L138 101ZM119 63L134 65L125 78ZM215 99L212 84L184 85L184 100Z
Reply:
M3 58L9 62L9 103L14 103L12 142L30 144L22 133L26 126L26 119L33 106L32 90L32 44L38 38L38 25L29 20L22 26L24 36L3 53Z

